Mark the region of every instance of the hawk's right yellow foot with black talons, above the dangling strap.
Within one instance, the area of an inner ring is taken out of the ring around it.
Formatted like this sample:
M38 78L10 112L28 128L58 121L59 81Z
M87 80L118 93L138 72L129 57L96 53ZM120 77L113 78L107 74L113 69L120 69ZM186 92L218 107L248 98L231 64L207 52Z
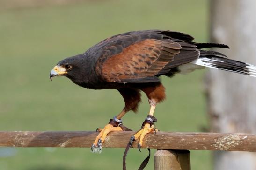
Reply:
M138 140L139 139L139 145L138 145L138 149L140 151L140 148L143 144L143 139L144 139L144 136L148 133L155 133L157 132L158 130L154 128L154 125L151 125L149 123L145 123L144 127L142 129L140 129L136 134L134 134L130 140L130 143L132 144L132 142L134 140Z

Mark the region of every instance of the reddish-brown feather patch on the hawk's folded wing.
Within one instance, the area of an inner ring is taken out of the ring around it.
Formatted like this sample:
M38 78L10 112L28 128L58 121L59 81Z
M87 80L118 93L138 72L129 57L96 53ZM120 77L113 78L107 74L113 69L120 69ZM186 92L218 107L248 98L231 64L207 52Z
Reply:
M169 39L146 39L110 56L98 71L107 82L145 82L173 61L180 49L180 44Z

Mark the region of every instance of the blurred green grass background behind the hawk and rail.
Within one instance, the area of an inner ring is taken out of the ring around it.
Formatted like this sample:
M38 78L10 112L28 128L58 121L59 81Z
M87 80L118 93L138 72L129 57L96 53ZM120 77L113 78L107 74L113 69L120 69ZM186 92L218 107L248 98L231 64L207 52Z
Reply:
M132 30L185 32L207 41L207 0L97 0L0 11L0 130L95 130L123 108L115 90L89 90L65 77L49 80L61 59L83 53L98 41ZM162 78L167 100L157 108L161 131L207 127L203 71ZM124 124L139 129L148 113L143 95L139 114ZM1 151L1 150L0 150ZM1 170L120 170L124 149L92 154L81 148L20 148L0 158ZM154 150L153 150L154 152ZM128 169L138 168L146 150L132 150ZM146 170L153 170L153 156ZM113 166L115 165L115 166ZM211 170L208 151L191 150L192 170Z

